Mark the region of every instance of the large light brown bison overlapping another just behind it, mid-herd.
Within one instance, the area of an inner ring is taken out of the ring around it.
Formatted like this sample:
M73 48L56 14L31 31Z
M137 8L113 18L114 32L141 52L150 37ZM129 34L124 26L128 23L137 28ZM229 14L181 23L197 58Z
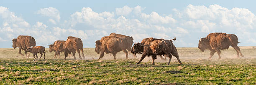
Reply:
M128 42L127 40L125 40L125 38L110 35L102 37L101 40L97 40L95 43L95 52L97 52L97 54L100 54L100 58L104 56L105 52L107 54L112 53L114 59L116 59L116 53L121 50L125 52L126 57L128 57L128 52L126 50L126 45L128 44Z

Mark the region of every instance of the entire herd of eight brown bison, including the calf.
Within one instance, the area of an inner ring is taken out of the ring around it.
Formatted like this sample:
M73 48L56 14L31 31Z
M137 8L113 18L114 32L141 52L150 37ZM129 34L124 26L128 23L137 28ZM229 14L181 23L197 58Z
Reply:
M100 54L99 59L104 56L104 52L107 54L112 53L114 59L116 59L115 56L117 52L120 51L125 53L126 59L128 58L128 52L133 53L134 57L136 57L137 53L142 54L141 59L137 62L137 64L139 64L146 56L151 56L153 60L152 64L154 64L156 55L164 55L165 57L169 57L169 65L173 55L177 58L179 64L182 64L182 62L179 60L177 48L172 43L173 40L176 40L176 38L172 40L164 40L150 37L143 39L141 43L133 43L133 37L111 33L109 36L104 36L100 40L95 41L95 52ZM202 52L204 52L204 50L210 50L211 52L209 59L214 55L215 52L218 53L220 59L220 50L228 49L229 46L232 46L236 50L237 57L239 57L239 54L243 57L240 48L237 46L238 43L240 42L238 42L238 38L234 34L215 32L210 33L207 35L207 37L200 38L198 48ZM16 47L19 47L19 54L22 56L24 55L21 53L21 50L25 50L26 57L29 57L27 52L31 52L33 53L33 57L38 59L37 54L40 53L41 56L39 59L41 59L44 53L45 59L45 47L36 46L36 40L34 37L19 35L17 38L13 39L13 48L15 49ZM71 54L71 52L75 60L76 52L78 52L80 59L82 59L82 57L84 58L83 42L78 37L69 36L67 37L66 41L55 41L54 44L49 45L49 52L52 51L55 52L54 58L56 56L59 57L60 52L64 52L65 60L68 54ZM80 55L80 51L82 52L82 57Z

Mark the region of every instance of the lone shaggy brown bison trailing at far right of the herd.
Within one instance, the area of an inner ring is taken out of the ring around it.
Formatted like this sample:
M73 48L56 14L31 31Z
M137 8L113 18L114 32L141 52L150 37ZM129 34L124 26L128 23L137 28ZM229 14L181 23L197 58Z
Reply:
M239 57L239 53L243 57L240 48L237 46L238 43L240 42L238 42L238 38L234 34L215 32L210 33L207 37L201 38L198 43L198 48L202 52L210 50L209 59L211 59L215 52L218 53L220 59L220 50L228 49L229 46L232 46L236 50L237 57Z

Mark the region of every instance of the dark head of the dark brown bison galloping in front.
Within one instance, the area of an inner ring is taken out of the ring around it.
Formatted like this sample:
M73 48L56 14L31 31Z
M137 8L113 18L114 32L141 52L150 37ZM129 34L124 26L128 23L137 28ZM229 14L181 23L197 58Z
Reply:
M143 52L144 45L141 44L141 43L133 43L133 44L134 45L133 45L133 48L131 50L131 53L133 53L133 54L140 53L141 54Z

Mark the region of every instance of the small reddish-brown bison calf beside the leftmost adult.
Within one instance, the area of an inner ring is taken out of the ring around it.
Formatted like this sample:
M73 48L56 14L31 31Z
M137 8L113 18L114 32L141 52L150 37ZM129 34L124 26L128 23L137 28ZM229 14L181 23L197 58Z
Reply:
M44 52L44 50L45 50L45 47L44 47L44 46L28 47L28 48L26 49L26 51L33 53L33 57L34 57L35 59L38 59L37 53L40 53L41 56L40 56L39 60L40 60L41 57L43 56L43 53L44 53L44 59L45 59L45 52ZM36 57L35 57L35 55L36 55Z

